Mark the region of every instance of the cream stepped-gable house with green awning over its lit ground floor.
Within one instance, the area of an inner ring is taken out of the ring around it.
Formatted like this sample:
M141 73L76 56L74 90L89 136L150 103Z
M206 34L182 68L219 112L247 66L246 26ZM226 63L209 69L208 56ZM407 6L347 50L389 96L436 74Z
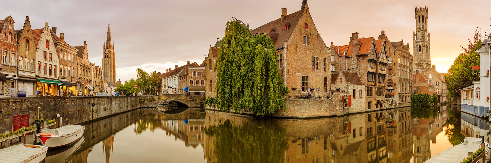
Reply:
M32 30L32 35L37 46L36 93L39 92L40 96L59 96L62 83L59 82L58 77L58 53L48 22L45 23L44 28Z

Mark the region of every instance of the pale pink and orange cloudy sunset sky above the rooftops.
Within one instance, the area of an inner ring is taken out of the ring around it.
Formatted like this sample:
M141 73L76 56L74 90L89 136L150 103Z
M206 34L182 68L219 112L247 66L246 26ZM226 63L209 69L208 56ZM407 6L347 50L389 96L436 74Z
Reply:
M347 45L351 33L404 40L412 47L414 8L429 8L430 57L443 73L462 52L477 26L490 29L491 0L308 0L309 10L329 46ZM33 29L44 22L65 33L71 46L87 41L89 61L102 64L108 21L116 53L116 78L136 77L136 68L164 72L186 61L203 61L210 44L223 37L231 17L250 28L300 10L301 0L9 0L0 17L11 15L21 29L29 16ZM488 31L489 34L490 31ZM411 50L412 54L412 50Z

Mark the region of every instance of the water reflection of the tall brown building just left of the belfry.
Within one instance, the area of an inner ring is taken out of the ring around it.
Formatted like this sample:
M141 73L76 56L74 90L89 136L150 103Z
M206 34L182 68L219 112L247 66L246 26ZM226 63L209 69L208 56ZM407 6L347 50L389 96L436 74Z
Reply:
M409 163L412 157L412 118L410 108L390 110L387 125L387 163Z

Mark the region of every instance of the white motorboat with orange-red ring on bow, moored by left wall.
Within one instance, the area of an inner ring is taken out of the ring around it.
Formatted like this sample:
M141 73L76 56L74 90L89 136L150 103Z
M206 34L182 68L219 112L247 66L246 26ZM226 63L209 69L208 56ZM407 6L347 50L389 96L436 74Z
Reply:
M66 125L56 129L41 129L36 137L41 140L41 145L49 148L69 146L83 137L85 126Z

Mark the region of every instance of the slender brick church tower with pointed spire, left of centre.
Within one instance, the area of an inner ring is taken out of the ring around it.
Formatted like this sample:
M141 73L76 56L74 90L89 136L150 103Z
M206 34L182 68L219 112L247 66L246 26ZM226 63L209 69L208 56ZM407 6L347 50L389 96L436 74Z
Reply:
M109 24L108 37L106 38L106 42L103 44L103 47L103 80L108 83L116 83L116 60L114 57L114 43L111 44L111 31L109 30Z

